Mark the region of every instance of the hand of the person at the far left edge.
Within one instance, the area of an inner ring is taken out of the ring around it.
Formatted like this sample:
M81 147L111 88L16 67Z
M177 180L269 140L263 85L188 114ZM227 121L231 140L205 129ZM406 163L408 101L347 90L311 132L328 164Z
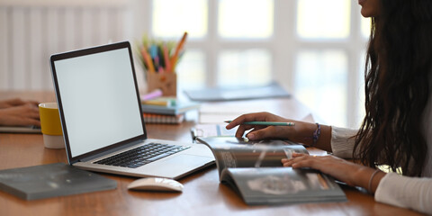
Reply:
M38 102L21 99L0 101L0 125L40 126Z

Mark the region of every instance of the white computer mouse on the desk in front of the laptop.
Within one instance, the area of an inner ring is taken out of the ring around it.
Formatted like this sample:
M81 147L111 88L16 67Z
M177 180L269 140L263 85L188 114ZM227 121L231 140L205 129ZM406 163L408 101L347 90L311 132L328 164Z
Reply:
M139 191L182 192L183 184L169 178L146 177L131 182L128 185L128 189Z

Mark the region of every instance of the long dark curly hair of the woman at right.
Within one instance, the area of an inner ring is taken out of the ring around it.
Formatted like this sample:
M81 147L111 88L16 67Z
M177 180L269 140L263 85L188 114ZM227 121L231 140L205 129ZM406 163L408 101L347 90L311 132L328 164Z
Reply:
M381 0L365 64L365 120L353 157L420 176L428 145L423 112L432 71L432 1ZM431 122L432 123L432 122Z

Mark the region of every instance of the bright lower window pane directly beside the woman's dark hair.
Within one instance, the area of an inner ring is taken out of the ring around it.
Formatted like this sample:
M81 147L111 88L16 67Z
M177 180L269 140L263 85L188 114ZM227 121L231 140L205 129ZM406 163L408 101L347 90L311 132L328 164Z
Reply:
M336 125L347 116L347 53L339 49L302 50L295 68L295 96Z

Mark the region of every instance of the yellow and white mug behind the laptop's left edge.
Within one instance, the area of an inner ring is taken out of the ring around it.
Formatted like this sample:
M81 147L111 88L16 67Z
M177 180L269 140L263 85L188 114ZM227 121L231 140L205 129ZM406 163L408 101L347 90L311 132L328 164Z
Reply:
M63 131L58 114L57 103L40 103L40 129L43 134L43 143L46 148L65 148Z

